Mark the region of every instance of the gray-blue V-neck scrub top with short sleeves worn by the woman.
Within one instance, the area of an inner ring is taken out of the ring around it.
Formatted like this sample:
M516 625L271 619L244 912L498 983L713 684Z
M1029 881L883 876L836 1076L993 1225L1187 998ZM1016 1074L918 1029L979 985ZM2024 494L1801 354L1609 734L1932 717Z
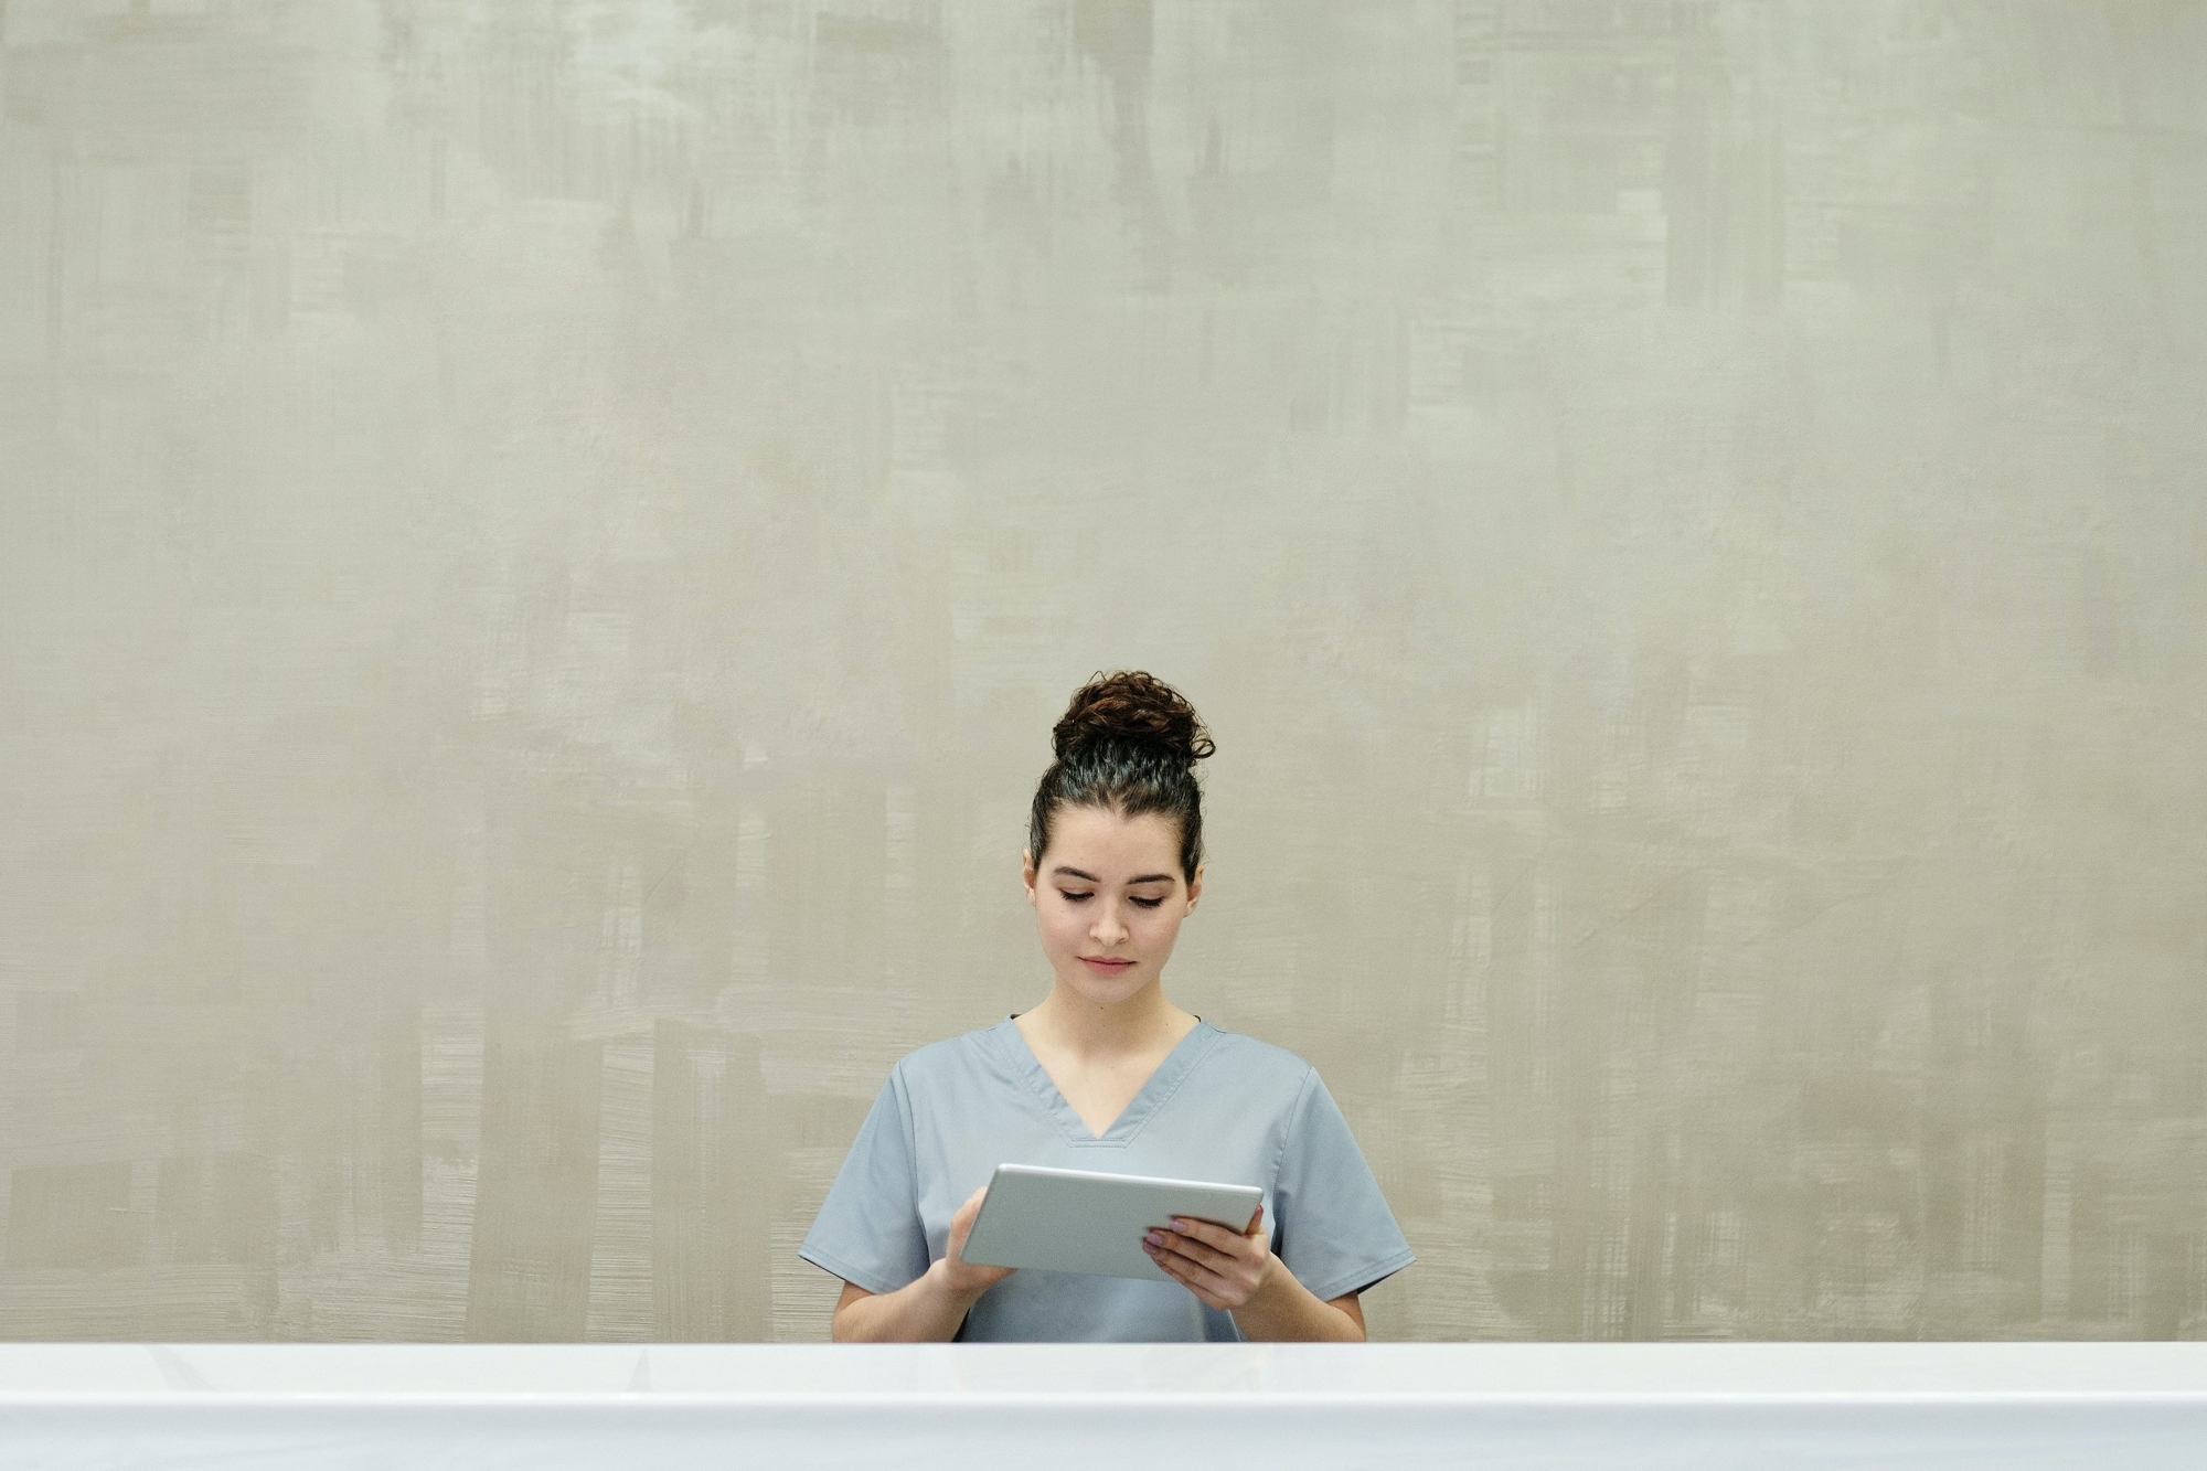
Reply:
M920 1047L889 1069L799 1255L867 1292L918 1279L951 1215L998 1164L1218 1179L1265 1190L1271 1248L1320 1299L1410 1266L1318 1069L1209 1023L1181 1038L1097 1137L1042 1071L1011 1018ZM1170 1281L1013 1272L958 1332L978 1343L1234 1341L1240 1330Z

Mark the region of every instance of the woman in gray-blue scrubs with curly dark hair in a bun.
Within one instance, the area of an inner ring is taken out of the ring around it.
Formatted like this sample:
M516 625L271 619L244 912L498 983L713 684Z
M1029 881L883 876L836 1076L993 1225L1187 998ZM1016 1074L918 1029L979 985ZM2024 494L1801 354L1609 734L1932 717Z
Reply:
M1055 729L1022 855L1051 994L889 1071L806 1261L843 1279L839 1341L1364 1338L1357 1294L1410 1263L1309 1062L1165 1001L1203 897L1209 733L1148 674L1088 682ZM1247 1232L1152 1230L1174 1281L960 1257L998 1164L1254 1184Z

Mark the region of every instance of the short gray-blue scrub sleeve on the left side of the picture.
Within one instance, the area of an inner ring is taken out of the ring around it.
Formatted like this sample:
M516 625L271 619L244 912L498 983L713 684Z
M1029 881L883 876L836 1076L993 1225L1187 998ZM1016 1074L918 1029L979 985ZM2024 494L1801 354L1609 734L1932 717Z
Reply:
M797 1255L867 1292L896 1292L927 1272L911 1107L900 1071L881 1084Z

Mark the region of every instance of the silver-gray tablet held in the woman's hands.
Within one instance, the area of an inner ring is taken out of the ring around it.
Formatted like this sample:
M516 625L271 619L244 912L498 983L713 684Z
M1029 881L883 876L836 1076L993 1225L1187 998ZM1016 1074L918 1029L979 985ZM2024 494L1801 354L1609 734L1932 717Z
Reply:
M1256 1186L1000 1164L967 1232L964 1259L1037 1272L1174 1281L1141 1250L1145 1230L1170 1226L1176 1215L1249 1230L1262 1199Z

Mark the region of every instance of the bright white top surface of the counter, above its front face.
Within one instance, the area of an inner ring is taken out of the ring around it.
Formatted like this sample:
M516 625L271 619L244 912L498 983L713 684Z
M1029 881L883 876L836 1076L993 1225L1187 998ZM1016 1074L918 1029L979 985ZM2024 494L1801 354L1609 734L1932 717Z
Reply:
M210 1394L2207 1398L2207 1343L0 1343L0 1403Z

